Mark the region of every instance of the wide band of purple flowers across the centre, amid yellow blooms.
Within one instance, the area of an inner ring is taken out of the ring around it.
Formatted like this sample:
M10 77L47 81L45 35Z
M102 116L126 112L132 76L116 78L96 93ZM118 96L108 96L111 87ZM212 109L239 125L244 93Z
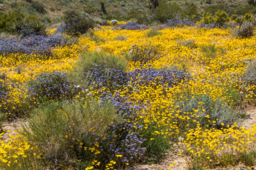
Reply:
M124 71L112 68L102 69L101 66L90 69L85 73L92 87L97 87L101 97L112 96L112 92L127 87L127 83L131 83L132 87L163 85L163 87L173 87L181 80L189 79L190 76L183 71L172 71L170 69L135 69L134 71L124 73ZM108 89L109 92L101 91ZM132 92L132 90L131 90ZM115 94L118 96L118 94ZM116 98L116 101L120 99ZM122 101L121 101L122 102ZM129 108L130 109L130 108Z

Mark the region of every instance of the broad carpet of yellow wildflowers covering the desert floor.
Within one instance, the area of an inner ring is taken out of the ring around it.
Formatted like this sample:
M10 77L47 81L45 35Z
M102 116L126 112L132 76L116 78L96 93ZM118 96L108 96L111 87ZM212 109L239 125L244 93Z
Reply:
M129 55L125 72L136 74L129 77L127 85L119 89L97 85L82 90L73 99L101 99L107 94L121 97L123 103L142 106L132 118L123 120L129 127L127 133L137 134L141 142L138 139L134 144L137 151L129 153L133 155L118 150L113 153L117 158L109 158L106 166L99 168L93 163L88 169L120 169L115 167L118 161L122 168L131 168L136 164L134 157L145 160L143 154L149 155L148 148L162 145L160 141L170 145L164 165L135 166L135 169L188 169L197 164L202 168L230 167L244 162L247 167L254 166L240 160L238 155L256 150L256 125L253 125L256 86L244 78L248 66L256 59L256 37L233 38L232 29L172 27L159 30L161 34L156 36L147 36L148 31L108 26L93 31L100 41L81 36L72 45L55 46L51 56L20 52L0 55L1 74L6 75L4 81L10 87L8 99L1 101L1 110L13 119L18 117L18 109L40 106L36 96L29 94L26 82L42 73L70 73L81 53L104 52L122 59ZM173 76L169 78L171 73ZM243 122L246 113L251 119ZM63 134L63 139L66 138L68 134ZM45 150L36 150L38 146L19 132L0 143L0 162L6 169L15 165L19 168L26 157L36 160L45 154ZM103 154L98 145L95 143L96 149L88 152L95 156L95 161Z

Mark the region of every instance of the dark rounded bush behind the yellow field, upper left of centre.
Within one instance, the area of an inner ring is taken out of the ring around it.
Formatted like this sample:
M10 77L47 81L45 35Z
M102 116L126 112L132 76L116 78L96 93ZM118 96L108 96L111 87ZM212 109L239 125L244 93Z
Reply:
M92 18L76 10L65 11L63 21L66 24L66 31L73 35L84 34L94 27Z

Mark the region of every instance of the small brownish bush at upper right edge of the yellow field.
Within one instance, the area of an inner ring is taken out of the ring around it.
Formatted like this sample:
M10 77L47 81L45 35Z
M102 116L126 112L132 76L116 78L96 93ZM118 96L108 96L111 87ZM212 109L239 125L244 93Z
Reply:
M253 36L254 26L252 23L247 23L237 28L233 36L236 38L250 38Z

